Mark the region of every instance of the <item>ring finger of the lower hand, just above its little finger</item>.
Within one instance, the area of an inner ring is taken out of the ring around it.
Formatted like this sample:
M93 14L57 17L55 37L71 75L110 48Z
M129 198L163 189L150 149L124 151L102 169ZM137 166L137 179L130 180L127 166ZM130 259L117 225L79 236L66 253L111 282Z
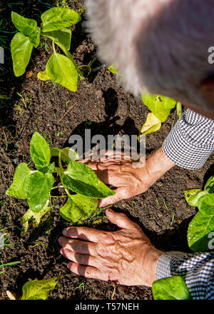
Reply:
M65 258L68 258L68 260L81 265L96 266L98 263L97 258L94 256L72 252L72 250L68 250L67 248L61 248L60 253Z

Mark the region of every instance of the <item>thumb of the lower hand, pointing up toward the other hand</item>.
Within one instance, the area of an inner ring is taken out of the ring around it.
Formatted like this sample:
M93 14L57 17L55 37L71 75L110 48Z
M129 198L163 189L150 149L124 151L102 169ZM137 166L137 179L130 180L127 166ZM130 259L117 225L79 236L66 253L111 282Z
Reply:
M140 229L140 227L136 223L133 223L125 213L116 213L115 211L112 211L111 208L108 208L106 210L106 216L111 223L114 223L119 228L133 231L139 231Z

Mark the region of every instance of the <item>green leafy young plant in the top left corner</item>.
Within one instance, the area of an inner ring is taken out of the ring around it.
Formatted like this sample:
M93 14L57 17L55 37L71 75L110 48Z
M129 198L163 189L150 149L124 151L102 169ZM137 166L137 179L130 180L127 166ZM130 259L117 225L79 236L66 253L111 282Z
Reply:
M41 81L54 81L68 88L77 90L78 76L84 79L69 50L71 46L71 25L81 21L78 12L67 8L51 8L41 14L41 27L34 19L26 19L12 12L11 19L19 30L11 41L11 55L15 76L21 76L29 64L33 48L37 48L41 36L52 40L54 53L46 64L46 70L38 74ZM55 44L66 54L58 54Z

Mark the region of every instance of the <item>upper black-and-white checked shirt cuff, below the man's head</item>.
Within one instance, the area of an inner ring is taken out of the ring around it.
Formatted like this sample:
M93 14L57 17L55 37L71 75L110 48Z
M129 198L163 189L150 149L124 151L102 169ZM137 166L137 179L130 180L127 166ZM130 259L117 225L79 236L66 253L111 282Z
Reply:
M180 167L203 167L214 151L214 120L186 110L165 138L163 151Z

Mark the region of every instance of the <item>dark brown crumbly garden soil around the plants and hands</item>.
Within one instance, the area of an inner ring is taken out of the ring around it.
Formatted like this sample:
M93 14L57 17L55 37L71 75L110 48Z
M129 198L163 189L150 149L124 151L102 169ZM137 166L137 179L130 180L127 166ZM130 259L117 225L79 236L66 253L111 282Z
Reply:
M83 1L67 2L72 9L82 10ZM16 1L17 4L11 8L9 3L10 1L1 1L1 11L8 21L4 22L6 30L14 31L10 23L11 9L39 21L40 13L49 9L53 1L22 0ZM13 34L9 34L9 40L11 36ZM9 41L6 45L9 47ZM9 233L9 245L1 250L0 257L3 263L21 260L18 265L0 269L0 273L4 270L0 275L0 299L7 299L6 290L14 292L19 298L21 287L26 281L53 276L58 277L58 285L51 291L49 299L111 299L115 284L70 273L66 267L66 259L59 254L57 238L63 228L69 225L58 213L64 199L54 198L54 208L41 226L21 238L22 216L28 206L26 201L6 196L5 191L12 182L16 166L21 162L31 161L29 142L34 131L45 133L51 141L50 146L62 148L68 145L71 134L83 133L85 128L91 128L92 134L103 136L117 133L138 134L148 110L141 99L134 98L117 85L115 76L106 66L99 71L92 71L89 76L86 72L86 80L79 81L76 93L50 81L38 81L37 74L45 69L51 51L50 42L43 41L39 49L34 49L26 70L33 71L33 76L15 78L9 49L6 49L6 64L4 71L0 72L1 92L4 91L11 97L2 102L0 108L0 228L7 228ZM83 23L73 29L71 54L78 65L88 64L96 56L96 47L84 33ZM100 65L96 61L92 68ZM24 98L26 108L17 92ZM64 116L73 104L73 109ZM146 136L147 153L161 146L176 120L176 113L173 112L160 131ZM185 203L183 191L201 188L213 170L210 168L212 163L208 161L198 171L188 171L176 166L146 193L120 201L112 208L123 211L136 221L157 248L188 251L186 233L195 209ZM96 218L86 221L85 226L115 230L106 218L102 218L101 223L92 225L95 220ZM78 288L81 283L84 283L84 288ZM153 296L151 288L116 285L113 298L148 300Z

